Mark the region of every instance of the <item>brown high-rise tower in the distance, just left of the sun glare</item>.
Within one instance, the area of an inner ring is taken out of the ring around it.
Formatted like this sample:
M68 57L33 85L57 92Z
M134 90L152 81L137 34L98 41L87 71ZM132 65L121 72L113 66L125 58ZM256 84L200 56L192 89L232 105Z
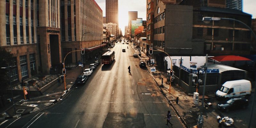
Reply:
M106 23L118 26L118 0L106 0Z

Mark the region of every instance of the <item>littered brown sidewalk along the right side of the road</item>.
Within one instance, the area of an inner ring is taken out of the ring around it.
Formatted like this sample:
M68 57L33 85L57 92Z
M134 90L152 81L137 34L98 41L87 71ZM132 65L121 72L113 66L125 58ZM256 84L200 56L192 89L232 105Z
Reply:
M133 46L131 46L133 48ZM136 49L133 49L135 53L137 52ZM141 60L148 60L148 57L141 52ZM201 113L200 107L201 107L201 100L202 96L199 96L199 105L193 104L193 95L187 95L182 88L178 84L172 83L171 85L171 94L169 94L169 88L170 84L167 83L167 73L164 73L163 71L157 70L156 72L151 72L149 65L146 66L148 69L149 74L152 76L152 78L155 80L157 86L159 87L160 91L163 93L163 95L166 97L166 99L169 101L170 105L174 108L176 114L180 117L183 124L188 127L195 127L197 125L197 117ZM160 87L162 85L162 78L163 78L163 87ZM209 96L210 97L210 96ZM179 98L178 104L176 104L176 99ZM207 99L208 96L205 96L205 104L208 103ZM204 117L204 124L203 127L205 128L217 128L217 116L219 114L211 107L205 107L203 112Z

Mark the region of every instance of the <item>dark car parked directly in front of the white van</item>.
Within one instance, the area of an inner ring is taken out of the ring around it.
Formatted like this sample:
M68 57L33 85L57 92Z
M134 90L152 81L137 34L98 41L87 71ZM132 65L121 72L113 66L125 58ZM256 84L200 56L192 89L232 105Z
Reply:
M229 110L246 108L248 106L248 100L245 98L231 98L226 101L219 102L217 108L226 112Z

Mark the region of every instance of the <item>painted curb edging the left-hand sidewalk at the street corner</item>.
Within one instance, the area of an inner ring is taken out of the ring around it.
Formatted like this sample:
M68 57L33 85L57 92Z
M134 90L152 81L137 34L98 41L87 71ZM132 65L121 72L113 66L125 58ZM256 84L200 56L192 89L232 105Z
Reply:
M73 88L74 85L75 85L75 84L73 84L73 85L71 86L71 88ZM64 93L60 96L60 98L58 98L57 100L54 100L54 101L53 101L50 105L48 105L47 107L49 107L49 106L51 106L51 105L57 103L58 101L60 101L60 99L61 99L62 97L64 97L64 95L67 94L67 92L69 92L71 88L68 88L68 90L63 91ZM56 93L59 93L59 92L56 92ZM45 107L45 108L46 108L46 107ZM40 110L40 109L39 109L39 110ZM25 115L34 113L34 112L39 111L39 110L35 110L35 111L32 110L32 111L29 111L29 112L26 112L26 113L22 113L22 114L19 114L19 115L2 117L2 118L0 118L0 120L6 120L6 119L17 118L17 117L20 117L20 116L25 116Z

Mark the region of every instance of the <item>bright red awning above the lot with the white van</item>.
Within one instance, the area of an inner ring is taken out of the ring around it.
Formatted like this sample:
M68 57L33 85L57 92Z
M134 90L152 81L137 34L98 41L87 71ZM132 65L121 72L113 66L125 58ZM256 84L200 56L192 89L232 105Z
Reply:
M234 56L234 55L226 55L226 56L215 56L215 57L211 57L212 60L217 60L219 62L221 61L240 61L240 60L250 60L248 58L245 57L241 57L241 56Z

